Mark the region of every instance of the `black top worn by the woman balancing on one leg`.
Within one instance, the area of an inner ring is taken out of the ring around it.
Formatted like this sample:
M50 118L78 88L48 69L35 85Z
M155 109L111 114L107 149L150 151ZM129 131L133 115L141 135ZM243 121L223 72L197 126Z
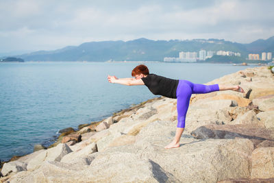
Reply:
M155 74L149 74L147 77L142 77L141 79L154 95L162 95L173 99L177 98L176 90L179 80L172 80Z

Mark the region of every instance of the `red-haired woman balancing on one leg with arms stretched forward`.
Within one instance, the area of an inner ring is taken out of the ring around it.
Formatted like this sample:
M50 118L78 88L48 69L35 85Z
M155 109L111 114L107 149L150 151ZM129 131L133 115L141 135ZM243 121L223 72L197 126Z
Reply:
M141 64L132 70L132 76L135 78L120 78L108 75L108 82L124 84L127 86L145 85L154 95L162 95L177 99L177 130L174 140L164 147L165 149L179 147L179 139L184 132L186 112L190 97L197 93L211 93L221 90L234 90L244 93L240 86L225 86L219 84L203 85L193 84L187 80L172 80L155 74L150 74L147 66Z

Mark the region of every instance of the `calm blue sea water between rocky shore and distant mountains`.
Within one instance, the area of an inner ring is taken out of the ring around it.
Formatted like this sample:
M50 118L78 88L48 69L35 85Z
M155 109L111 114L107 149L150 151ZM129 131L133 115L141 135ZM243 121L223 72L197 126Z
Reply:
M155 97L146 86L109 84L131 77L138 63L25 62L0 64L0 159L49 145L58 130L99 121ZM206 83L246 69L228 64L146 63L151 73Z

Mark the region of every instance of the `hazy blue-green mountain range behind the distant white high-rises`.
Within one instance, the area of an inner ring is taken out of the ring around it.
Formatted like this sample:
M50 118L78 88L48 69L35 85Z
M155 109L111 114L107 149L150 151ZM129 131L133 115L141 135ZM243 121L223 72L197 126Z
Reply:
M149 40L139 38L129 41L84 42L79 46L68 46L54 51L36 51L16 56L25 61L162 61L164 57L179 57L180 51L234 51L242 58L249 53L273 52L274 36L256 40L249 44L220 39L194 40Z

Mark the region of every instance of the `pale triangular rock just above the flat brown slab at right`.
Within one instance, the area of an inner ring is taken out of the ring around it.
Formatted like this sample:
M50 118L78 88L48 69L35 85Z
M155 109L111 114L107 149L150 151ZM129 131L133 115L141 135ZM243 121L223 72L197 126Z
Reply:
M256 117L256 112L253 110L249 110L245 114L238 115L234 121L231 121L229 124L236 125L236 124L252 124L254 126L264 127L264 123Z

